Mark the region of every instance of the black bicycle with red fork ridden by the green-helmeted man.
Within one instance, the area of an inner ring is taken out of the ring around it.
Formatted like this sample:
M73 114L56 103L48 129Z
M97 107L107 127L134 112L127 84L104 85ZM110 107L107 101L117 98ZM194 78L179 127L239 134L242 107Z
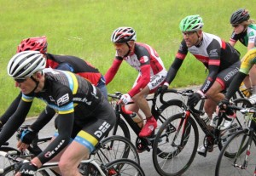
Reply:
M184 97L194 93L193 90L177 91L176 89L168 89L166 91ZM163 105L167 104L165 101L161 101L161 103ZM230 128L221 131L219 128L221 122L228 120L225 116L218 118L217 128L208 128L200 117L204 113L203 104L204 99L201 101L199 110L195 107L183 105L184 111L168 118L156 133L153 145L153 162L156 171L160 175L181 175L194 161L199 143L196 122L206 134L203 142L206 150L201 153L202 156L207 156L207 152L212 151L214 145L218 145L221 150L230 135L242 129L243 124L236 117L236 122L233 122ZM233 153L225 152L225 156L232 155Z

